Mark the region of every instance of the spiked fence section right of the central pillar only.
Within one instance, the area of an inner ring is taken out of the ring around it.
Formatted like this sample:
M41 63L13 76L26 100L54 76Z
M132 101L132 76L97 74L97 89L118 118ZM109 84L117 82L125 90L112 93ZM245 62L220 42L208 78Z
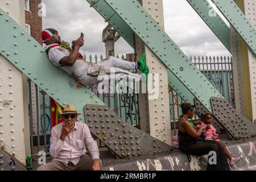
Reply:
M229 56L190 56L192 63L205 75L216 89L234 106L232 57ZM196 81L196 80L195 80ZM181 115L181 103L185 102L170 88L171 135L177 134L178 119ZM193 119L199 119L196 115Z

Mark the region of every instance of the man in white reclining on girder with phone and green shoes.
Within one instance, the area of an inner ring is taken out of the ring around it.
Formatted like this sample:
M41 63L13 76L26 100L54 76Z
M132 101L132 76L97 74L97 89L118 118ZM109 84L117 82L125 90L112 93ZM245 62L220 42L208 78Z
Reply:
M42 39L46 43L45 49L52 63L69 75L76 77L85 86L96 85L101 81L106 81L106 79L147 82L148 66L146 65L145 53L137 63L112 56L98 63L89 63L79 56L79 49L84 46L84 38L82 36L73 41L73 51L60 47L60 35L53 28L44 30ZM131 69L139 69L142 74L131 73L128 71Z

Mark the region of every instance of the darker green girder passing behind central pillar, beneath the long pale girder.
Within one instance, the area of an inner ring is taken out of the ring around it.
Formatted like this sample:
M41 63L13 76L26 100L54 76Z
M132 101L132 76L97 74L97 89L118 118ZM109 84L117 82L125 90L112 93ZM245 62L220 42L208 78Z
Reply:
M127 43L130 44L131 47L135 48L134 41L131 42L130 40L135 40L134 38L134 31L131 29L117 14L113 15L112 7L108 5L103 0L87 0L90 3L90 7L93 7L106 21L111 24L116 31L126 40ZM108 19L107 17L112 18ZM129 35L129 36L127 36ZM195 96L176 78L174 73L172 73L169 69L168 72L168 81L169 85L187 102L193 103L193 99Z

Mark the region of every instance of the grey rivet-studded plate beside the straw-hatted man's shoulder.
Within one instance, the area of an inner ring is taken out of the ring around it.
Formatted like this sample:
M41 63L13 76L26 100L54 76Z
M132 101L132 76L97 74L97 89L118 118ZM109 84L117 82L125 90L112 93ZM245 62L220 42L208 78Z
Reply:
M172 147L143 131L122 122L108 106L86 105L85 122L119 158L170 151Z

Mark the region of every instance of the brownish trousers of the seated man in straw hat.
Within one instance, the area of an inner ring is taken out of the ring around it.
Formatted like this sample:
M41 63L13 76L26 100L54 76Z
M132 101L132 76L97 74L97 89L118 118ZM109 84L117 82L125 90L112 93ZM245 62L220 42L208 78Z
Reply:
M68 164L68 166L65 166L65 164L54 160L50 163L43 164L40 166L37 171L89 171L92 167L93 160L92 157L89 157L87 155L82 155L79 163L74 165L73 163ZM100 168L102 168L102 164L100 161Z

